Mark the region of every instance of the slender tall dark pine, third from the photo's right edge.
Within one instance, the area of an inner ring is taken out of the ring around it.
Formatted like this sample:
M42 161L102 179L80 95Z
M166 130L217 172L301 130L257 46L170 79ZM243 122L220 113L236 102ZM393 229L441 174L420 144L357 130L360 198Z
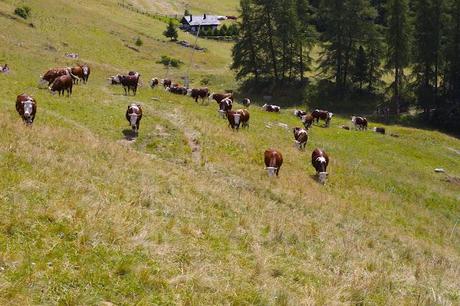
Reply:
M387 2L387 54L386 67L393 70L393 100L396 113L400 113L401 88L403 86L404 68L410 59L410 24L407 0L388 0Z

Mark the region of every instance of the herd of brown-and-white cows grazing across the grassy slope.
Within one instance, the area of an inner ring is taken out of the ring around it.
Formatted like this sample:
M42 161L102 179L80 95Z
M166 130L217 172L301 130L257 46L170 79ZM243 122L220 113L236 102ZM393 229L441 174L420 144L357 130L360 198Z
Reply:
M67 96L70 97L72 95L73 85L80 82L86 84L88 82L89 75L90 67L86 64L74 67L53 68L40 77L39 85L47 84L48 89L52 94L58 92L59 95L64 95L64 93L67 92ZM130 71L127 75L117 74L111 76L108 80L112 85L121 85L124 89L125 95L129 95L130 92L132 92L133 95L136 95L140 81L140 74L135 71ZM232 128L232 130L238 131L240 127L249 128L249 111L247 109L233 110L233 93L211 93L208 88L190 89L177 83L173 83L169 79L159 81L157 78L153 78L151 79L149 85L151 88L162 85L166 91L173 94L188 95L192 97L196 103L198 103L199 100L201 100L202 104L206 102L209 103L210 100L214 100L218 105L218 114L223 119L226 118L228 120L228 125ZM241 100L241 104L249 108L251 100L249 98L244 98ZM267 112L274 113L279 113L281 111L280 106L271 104L264 104L262 109ZM23 119L24 123L31 125L37 112L37 101L28 94L20 94L16 98L16 110ZM293 128L295 143L299 150L305 150L309 139L309 129L312 124L315 121L319 124L319 120L323 120L325 127L328 127L333 113L316 109L309 114L305 111L296 110L294 111L294 115L300 118L304 125L304 128ZM125 117L133 132L137 134L139 132L140 122L142 119L141 105L136 103L128 105ZM351 122L356 130L367 129L368 123L366 118L353 116ZM343 128L346 127L343 126ZM384 128L375 128L374 131L385 134ZM278 176L283 164L283 155L281 152L275 149L266 150L264 153L264 161L269 176ZM329 156L325 151L316 148L312 152L311 163L316 170L318 181L324 184L328 176L327 166L329 165Z

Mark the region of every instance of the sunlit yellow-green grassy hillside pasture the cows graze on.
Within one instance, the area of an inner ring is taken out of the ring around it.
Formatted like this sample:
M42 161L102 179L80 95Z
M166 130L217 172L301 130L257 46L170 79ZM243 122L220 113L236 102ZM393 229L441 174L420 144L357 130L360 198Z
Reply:
M216 1L220 2L220 1ZM0 304L300 305L460 304L460 142L437 131L387 126L399 138L314 127L307 152L276 124L288 111L251 107L232 132L215 104L196 105L146 85L163 77L165 25L116 1L0 1ZM32 22L34 27L28 25ZM136 52L125 45L135 37ZM181 34L182 39L192 40ZM235 86L231 45L200 41L193 84ZM93 72L71 98L37 88L38 76L77 52ZM142 74L136 97L106 77ZM32 128L17 94L38 100ZM139 138L124 139L129 103L144 107ZM372 123L371 123L372 126ZM269 179L262 154L285 157ZM310 152L331 157L326 186Z

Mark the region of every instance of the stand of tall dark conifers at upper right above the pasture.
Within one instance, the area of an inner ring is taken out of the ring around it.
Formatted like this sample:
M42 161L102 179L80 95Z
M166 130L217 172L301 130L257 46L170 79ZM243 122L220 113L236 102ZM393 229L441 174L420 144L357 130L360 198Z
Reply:
M237 79L460 131L460 0L241 0ZM321 102L327 101L326 104Z

